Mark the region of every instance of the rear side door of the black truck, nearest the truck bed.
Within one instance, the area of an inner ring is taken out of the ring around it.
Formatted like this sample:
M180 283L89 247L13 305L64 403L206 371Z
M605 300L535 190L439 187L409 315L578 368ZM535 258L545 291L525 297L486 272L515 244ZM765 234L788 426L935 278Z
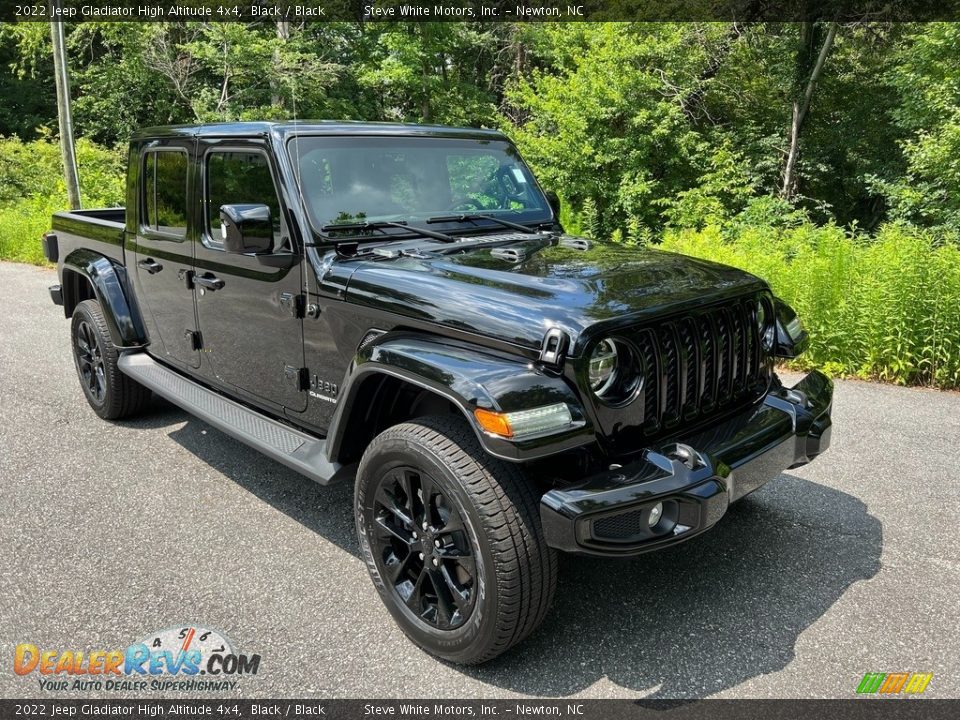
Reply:
M200 365L197 320L189 273L193 243L191 197L192 139L146 146L139 156L137 229L131 247L137 299L144 306L150 352L185 368Z

